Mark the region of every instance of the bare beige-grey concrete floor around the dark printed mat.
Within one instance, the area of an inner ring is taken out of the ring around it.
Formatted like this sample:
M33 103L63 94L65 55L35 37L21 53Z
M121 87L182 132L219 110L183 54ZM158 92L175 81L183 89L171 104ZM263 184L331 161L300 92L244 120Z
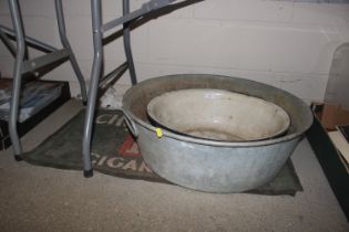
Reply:
M70 102L23 139L25 150L80 108ZM296 197L212 194L95 172L42 168L0 154L0 231L349 231L305 139L292 155Z

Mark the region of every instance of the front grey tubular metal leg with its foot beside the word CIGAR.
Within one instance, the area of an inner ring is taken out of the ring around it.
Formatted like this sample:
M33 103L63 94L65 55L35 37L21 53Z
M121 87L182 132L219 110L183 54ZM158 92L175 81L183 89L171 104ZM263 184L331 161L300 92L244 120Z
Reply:
M89 88L89 101L85 114L84 130L83 130L83 144L82 144L82 155L83 155L83 170L84 177L92 177L93 169L91 164L91 137L92 127L94 119L94 109L96 103L96 96L99 91L99 80L102 71L102 60L103 60L103 45L102 45L102 15L101 15L101 1L91 0L92 9L92 29L93 29L93 66L90 80Z

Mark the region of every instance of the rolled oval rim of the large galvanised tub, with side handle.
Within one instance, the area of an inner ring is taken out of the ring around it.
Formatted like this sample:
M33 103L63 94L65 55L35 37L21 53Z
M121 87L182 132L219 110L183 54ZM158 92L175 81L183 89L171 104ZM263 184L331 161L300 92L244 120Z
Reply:
M234 78L236 81L255 83L258 85L263 85L263 86L267 86L269 88L280 91L280 92L283 92L283 94L286 94L289 97L294 98L300 105L300 107L302 108L302 110L306 114L305 126L302 126L301 128L297 129L294 133L286 134L285 136L281 136L281 137L270 138L270 139L266 139L266 140L255 140L255 141L219 141L219 140L211 140L211 139L205 139L205 138L195 138L195 137L178 135L178 134L172 133L170 130L166 130L165 128L162 128L162 134L163 134L162 136L163 137L168 137L168 138L173 138L173 139L181 140L181 141L201 144L201 145L206 145L206 146L215 146L215 147L257 147L257 146L260 147L260 146L268 146L268 145L273 145L273 144L279 144L283 141L288 141L288 140L295 139L297 137L300 137L301 135L304 135L304 133L306 133L310 128L310 126L312 124L314 116L311 114L309 106L304 101L298 98L297 96L295 96L295 95L292 95L292 94L290 94L284 89L280 89L280 88L277 88L277 87L264 84L264 83L240 78L240 77L213 75L213 74L176 74L176 75L165 75L165 76L158 76L158 77L145 80L143 82L140 82L134 87L142 87L142 85L144 85L148 82L156 82L156 80L162 80L164 77L171 78L172 76L181 76L181 75L183 75L183 76L216 76L216 77L222 77L222 78ZM137 137L138 135L137 135L137 129L136 129L136 126L134 125L134 123L141 125L142 127L145 127L146 129L152 130L154 133L154 136L156 137L156 127L151 125L147 122L144 122L140 117L135 116L124 105L124 98L126 98L132 93L134 87L131 87L130 89L127 89L126 93L124 94L124 97L123 97L122 109L123 109L123 113L125 115L125 120L127 123L127 126L131 129L132 134L134 134L135 137ZM130 108L130 106L129 106L129 108ZM158 139L162 139L162 138L158 138Z

